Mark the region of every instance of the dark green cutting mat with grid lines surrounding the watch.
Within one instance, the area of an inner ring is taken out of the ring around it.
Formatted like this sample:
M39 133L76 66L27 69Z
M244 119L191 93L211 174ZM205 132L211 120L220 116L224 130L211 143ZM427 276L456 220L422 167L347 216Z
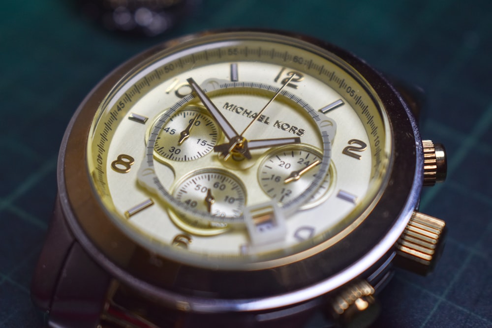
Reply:
M431 276L396 272L374 327L492 327L490 0L205 0L154 39L106 32L68 0L2 1L0 327L41 327L31 276L56 195L59 145L83 97L154 44L232 27L309 34L426 90L422 135L445 144L448 179L424 192L421 210L445 219L449 238Z

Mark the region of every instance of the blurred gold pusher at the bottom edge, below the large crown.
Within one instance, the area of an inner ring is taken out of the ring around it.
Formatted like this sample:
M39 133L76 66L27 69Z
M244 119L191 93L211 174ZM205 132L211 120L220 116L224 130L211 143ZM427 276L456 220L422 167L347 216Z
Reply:
M338 327L369 326L379 315L375 290L366 280L355 280L344 286L329 302L329 312Z

